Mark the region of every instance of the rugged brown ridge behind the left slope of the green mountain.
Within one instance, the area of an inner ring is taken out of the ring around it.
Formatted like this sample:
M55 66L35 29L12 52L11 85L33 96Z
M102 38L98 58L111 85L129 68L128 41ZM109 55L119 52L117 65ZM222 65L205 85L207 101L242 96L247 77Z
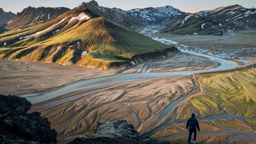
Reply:
M64 12L67 12L68 8L25 8L22 12L10 20L10 22L5 25L6 29L14 29L16 27L29 25L31 23L46 21L51 18L55 18Z

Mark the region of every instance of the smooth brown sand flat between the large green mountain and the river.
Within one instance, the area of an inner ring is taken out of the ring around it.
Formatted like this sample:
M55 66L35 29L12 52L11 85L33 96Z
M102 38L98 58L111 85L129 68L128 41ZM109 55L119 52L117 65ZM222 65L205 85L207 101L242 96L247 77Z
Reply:
M0 93L24 94L53 90L67 83L114 74L111 70L96 70L55 63L0 60Z

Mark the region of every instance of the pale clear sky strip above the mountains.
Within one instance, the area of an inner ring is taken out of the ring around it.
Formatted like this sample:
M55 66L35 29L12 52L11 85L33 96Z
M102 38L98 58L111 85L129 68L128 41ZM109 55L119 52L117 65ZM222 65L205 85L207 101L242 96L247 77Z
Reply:
M5 12L21 12L28 6L32 7L66 7L74 8L88 0L0 0L0 8ZM183 12L199 12L201 10L212 10L221 6L239 4L245 8L255 8L256 0L96 0L99 5L108 8L147 8L171 5Z

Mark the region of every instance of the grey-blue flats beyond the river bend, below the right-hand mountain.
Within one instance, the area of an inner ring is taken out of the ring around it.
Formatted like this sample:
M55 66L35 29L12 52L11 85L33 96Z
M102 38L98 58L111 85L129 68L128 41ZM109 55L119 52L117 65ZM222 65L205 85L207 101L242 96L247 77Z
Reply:
M256 59L256 29L228 31L224 35L173 35L171 33L150 33L150 35L171 39L188 46L192 51L216 55L227 59Z

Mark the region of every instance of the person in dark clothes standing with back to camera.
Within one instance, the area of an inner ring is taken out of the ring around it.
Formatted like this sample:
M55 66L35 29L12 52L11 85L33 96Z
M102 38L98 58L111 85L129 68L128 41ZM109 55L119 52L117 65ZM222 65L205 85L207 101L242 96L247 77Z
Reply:
M197 141L197 129L200 131L199 122L195 118L195 113L192 113L191 117L186 122L186 129L188 129L188 143L191 142L191 136L194 133L194 141Z

